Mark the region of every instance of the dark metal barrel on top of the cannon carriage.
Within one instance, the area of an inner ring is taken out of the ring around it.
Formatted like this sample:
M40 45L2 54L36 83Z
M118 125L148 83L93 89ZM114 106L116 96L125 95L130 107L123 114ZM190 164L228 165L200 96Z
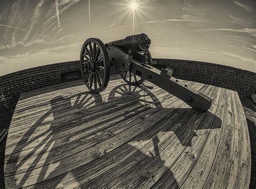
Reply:
M112 41L110 44L122 48L126 52L142 52L149 49L151 40L145 33L140 33L133 36L127 36L125 39Z

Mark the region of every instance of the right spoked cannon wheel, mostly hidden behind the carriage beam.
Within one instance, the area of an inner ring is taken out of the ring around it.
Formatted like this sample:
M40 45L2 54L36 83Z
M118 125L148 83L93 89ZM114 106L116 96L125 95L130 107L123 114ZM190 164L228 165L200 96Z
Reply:
M143 52L138 52L138 53L143 54ZM146 54L146 64L150 66L152 65L152 58L149 51L147 51L147 54ZM140 78L140 76L135 75L134 73L131 73L131 72L127 72L122 68L118 68L118 72L121 78L130 85L140 85L144 81L144 79Z

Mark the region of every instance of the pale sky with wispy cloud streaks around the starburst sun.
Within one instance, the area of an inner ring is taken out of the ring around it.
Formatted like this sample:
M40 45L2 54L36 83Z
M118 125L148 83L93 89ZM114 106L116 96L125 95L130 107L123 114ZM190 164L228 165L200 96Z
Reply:
M256 72L255 9L255 0L1 0L0 75L79 60L87 38L133 33L149 36L153 58Z

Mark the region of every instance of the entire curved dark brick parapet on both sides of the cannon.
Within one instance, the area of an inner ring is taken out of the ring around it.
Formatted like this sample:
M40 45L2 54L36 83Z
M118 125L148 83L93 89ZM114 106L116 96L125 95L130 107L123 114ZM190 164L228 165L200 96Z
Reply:
M240 94L255 94L256 75L253 72L198 61L153 60L159 69L172 68L176 78L237 90ZM117 68L112 67L111 73L117 73ZM14 109L23 92L80 78L79 61L39 66L0 76L0 112Z

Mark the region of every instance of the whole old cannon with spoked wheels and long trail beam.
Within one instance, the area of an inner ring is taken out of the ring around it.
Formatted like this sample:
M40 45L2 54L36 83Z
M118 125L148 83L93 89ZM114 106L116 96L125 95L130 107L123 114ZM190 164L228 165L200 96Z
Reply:
M161 71L152 67L149 52L151 40L146 34L104 44L98 38L87 39L80 52L80 70L86 87L100 93L110 79L110 66L116 66L121 78L130 85L142 85L144 80L166 90L199 112L211 107L212 100L172 76L171 68Z

